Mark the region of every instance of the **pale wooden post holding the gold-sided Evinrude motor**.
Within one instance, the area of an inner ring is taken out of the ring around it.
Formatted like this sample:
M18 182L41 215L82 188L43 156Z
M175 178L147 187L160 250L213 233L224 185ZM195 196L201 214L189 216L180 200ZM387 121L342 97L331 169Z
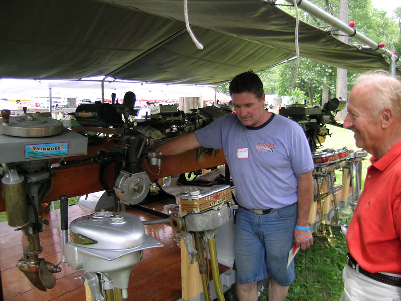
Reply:
M193 235L192 235L193 237ZM193 238L193 242L195 239ZM195 244L195 243L194 243ZM190 300L203 291L197 259L191 264L185 242L181 238L181 285L182 299Z

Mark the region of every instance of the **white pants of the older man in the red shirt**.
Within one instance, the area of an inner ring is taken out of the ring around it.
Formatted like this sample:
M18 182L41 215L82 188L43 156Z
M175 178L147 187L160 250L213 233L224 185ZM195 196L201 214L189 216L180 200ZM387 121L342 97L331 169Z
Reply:
M342 279L341 301L401 301L401 287L373 280L348 265L344 267Z

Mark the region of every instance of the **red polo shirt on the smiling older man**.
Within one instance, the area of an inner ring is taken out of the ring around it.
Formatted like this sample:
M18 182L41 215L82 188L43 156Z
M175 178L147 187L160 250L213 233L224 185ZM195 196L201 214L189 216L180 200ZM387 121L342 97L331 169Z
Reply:
M401 274L401 141L370 162L348 227L348 249L368 272Z

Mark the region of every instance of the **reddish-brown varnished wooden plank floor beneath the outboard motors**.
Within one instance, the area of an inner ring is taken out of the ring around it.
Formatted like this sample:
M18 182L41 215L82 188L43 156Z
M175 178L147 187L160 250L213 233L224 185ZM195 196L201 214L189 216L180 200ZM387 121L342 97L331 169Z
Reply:
M171 203L174 201L165 200L146 206L162 208L163 205ZM127 212L135 214L142 221L159 218L136 209L128 209ZM69 206L69 223L90 213L92 213L90 210L81 206ZM49 221L49 225L40 233L40 243L43 247L40 257L57 264L62 258L60 210L44 213L42 217ZM142 261L133 267L129 279L128 300L178 300L181 298L180 248L172 240L176 237L176 233L169 224L147 225L145 231L163 243L164 247L145 250ZM34 288L16 267L18 259L22 256L23 246L27 244L26 237L21 231L14 231L7 222L0 223L0 270L4 300L85 300L82 282L74 279L81 275L82 271L74 270L65 264L60 265L62 268L60 273L54 274L56 286L53 289L43 292ZM221 268L221 272L227 269Z

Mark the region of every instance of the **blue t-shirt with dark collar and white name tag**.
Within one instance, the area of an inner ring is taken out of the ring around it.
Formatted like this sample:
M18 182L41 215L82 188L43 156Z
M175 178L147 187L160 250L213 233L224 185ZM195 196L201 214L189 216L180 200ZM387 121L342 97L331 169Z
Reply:
M237 115L220 117L195 131L206 148L223 149L237 202L248 209L282 208L297 202L296 174L314 168L303 129L280 115L248 127Z

